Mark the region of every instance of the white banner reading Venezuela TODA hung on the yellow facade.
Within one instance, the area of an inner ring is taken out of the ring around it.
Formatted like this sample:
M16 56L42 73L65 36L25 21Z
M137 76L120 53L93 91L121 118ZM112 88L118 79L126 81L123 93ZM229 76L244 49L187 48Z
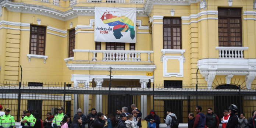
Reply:
M136 43L136 8L95 7L94 41Z

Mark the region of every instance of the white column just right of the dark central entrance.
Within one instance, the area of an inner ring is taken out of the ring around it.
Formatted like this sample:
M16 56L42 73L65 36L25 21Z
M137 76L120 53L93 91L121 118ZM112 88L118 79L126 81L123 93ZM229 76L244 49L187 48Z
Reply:
M139 82L141 83L141 88L146 88L149 79L140 79ZM147 116L147 96L141 95L141 113L142 119Z

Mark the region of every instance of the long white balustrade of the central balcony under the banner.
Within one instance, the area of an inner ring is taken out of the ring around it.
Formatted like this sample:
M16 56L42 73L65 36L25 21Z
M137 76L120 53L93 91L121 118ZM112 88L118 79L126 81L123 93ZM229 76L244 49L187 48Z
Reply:
M97 61L96 53L103 54L102 61L142 61L142 54L147 54L145 60L150 62L150 54L154 51L132 51L132 50L90 50L93 53L92 61ZM143 59L144 60L144 59Z

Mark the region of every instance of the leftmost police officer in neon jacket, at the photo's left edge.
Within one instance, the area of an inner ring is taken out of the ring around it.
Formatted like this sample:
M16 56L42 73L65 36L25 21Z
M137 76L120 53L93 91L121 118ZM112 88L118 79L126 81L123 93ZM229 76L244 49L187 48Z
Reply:
M13 128L15 125L14 117L10 114L10 109L4 109L4 115L0 116L0 128Z

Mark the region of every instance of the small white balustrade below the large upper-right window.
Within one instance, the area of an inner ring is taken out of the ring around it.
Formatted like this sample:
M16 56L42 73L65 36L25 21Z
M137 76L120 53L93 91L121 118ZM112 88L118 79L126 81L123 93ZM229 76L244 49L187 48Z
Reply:
M243 58L243 51L248 47L216 47L219 50L219 58Z

